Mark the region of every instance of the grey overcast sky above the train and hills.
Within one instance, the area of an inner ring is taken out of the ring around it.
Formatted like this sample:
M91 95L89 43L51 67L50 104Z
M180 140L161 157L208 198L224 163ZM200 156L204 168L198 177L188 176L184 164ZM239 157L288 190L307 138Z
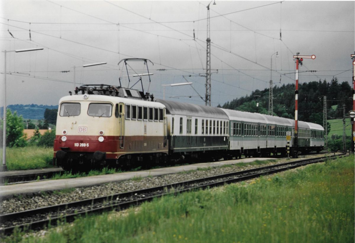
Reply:
M198 94L204 98L206 78L200 75L206 72L209 1L0 2L1 50L44 47L7 53L7 104L58 104L73 90L74 66L79 85L119 85L121 76L127 86L125 69L117 65L123 58L154 63L148 68L154 73L149 92L155 97L163 98L163 84L189 81L196 91L190 85L166 86L165 98L204 104ZM317 72L300 73L300 83L335 76L351 84L354 1L215 3L210 5L212 106L268 88L271 57L275 85L294 83L295 75L287 73L295 72L296 52L316 55L304 60L300 72ZM107 64L81 67L97 62ZM1 63L4 73L3 52ZM143 63L131 67L147 72ZM1 90L3 80L2 74ZM131 85L136 81L132 77ZM147 91L147 77L143 85Z

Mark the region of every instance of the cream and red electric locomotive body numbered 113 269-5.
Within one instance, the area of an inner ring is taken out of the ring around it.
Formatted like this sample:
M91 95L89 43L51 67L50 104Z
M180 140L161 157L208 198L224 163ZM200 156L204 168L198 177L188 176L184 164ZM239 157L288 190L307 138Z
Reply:
M158 162L168 153L165 133L161 103L102 94L65 96L59 101L54 159L65 170L82 171L143 158Z

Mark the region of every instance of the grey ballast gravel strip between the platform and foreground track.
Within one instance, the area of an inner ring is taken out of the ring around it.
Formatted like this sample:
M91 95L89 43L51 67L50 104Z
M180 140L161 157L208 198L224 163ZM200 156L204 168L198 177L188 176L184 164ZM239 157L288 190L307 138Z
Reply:
M306 156L306 158L321 157L323 155ZM303 156L302 156L303 157ZM292 161L278 159L277 162L269 162L262 165L246 165L237 166L231 165L230 167L215 167L208 170L196 170L188 171L186 173L169 174L155 177L135 178L120 182L110 182L97 186L90 187L78 187L69 190L37 193L35 195L17 195L15 197L3 200L0 202L0 214L15 213L18 211L24 211L29 209L35 209L40 207L47 207L51 205L75 202L83 199L109 196L111 194L117 194L121 192L135 191L144 188L150 188L155 186L163 186L175 182L194 180L203 177L209 177L214 175L221 175L241 170L248 170L258 167L263 167L271 164L284 163L286 161Z

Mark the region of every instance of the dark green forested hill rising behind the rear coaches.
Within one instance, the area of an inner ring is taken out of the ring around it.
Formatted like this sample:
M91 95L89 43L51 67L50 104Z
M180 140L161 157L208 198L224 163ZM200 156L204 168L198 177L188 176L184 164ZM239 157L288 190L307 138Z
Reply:
M295 113L295 85L287 84L273 88L274 115L294 118ZM352 110L353 90L348 82L338 83L337 78L330 82L312 81L299 84L298 117L304 122L323 125L323 96L327 96L327 118L343 118L343 104L345 112ZM259 103L257 107L256 104ZM219 106L220 107L220 106ZM225 103L222 108L247 112L268 114L269 89L255 90L250 96L236 98Z

